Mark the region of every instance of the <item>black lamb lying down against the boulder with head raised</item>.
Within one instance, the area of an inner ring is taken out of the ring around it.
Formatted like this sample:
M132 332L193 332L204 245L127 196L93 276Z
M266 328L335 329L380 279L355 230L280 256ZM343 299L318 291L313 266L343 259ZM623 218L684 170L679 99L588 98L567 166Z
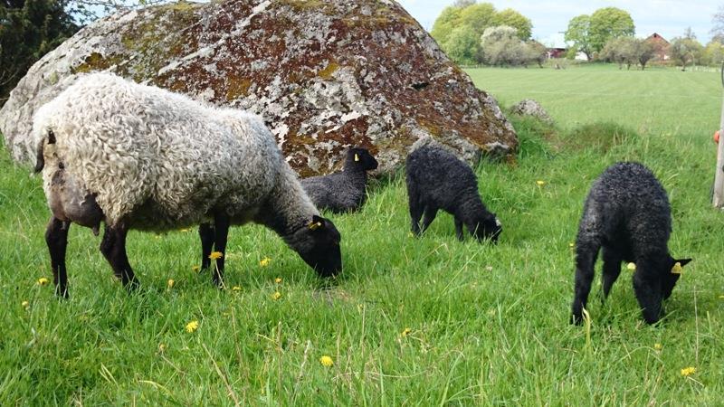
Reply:
M350 148L344 169L338 173L301 180L318 209L333 213L357 211L367 198L367 171L377 168L377 160L365 148Z

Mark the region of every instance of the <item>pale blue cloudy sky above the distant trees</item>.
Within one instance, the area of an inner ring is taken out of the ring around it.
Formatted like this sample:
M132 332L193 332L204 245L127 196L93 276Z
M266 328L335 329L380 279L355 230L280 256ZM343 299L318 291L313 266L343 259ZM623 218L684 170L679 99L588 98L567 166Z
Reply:
M453 0L398 0L409 14L430 31L440 12ZM497 10L512 8L533 23L533 38L548 46L563 47L563 33L571 18L580 14L593 14L603 7L618 7L633 18L637 37L659 33L671 40L681 36L687 27L696 34L700 43L711 38L711 17L724 0L478 0L491 3Z

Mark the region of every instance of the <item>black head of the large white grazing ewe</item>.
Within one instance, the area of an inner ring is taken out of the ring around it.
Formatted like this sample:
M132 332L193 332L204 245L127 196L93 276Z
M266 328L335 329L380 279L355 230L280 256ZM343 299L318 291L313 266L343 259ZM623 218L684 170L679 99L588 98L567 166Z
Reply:
M311 222L291 234L287 240L291 248L300 254L310 267L322 277L332 277L342 270L342 253L339 250L341 236L334 223L320 216L312 216Z

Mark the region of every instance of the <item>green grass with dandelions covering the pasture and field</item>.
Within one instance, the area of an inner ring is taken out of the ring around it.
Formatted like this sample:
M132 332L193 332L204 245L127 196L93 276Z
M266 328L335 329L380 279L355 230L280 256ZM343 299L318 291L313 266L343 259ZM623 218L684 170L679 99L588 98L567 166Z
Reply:
M477 168L483 199L504 225L500 244L456 241L447 214L411 238L405 185L395 178L373 188L362 213L334 216L345 270L330 287L273 233L246 226L233 228L227 256L226 284L241 291L214 289L192 270L195 231L131 232L143 288L129 296L100 238L74 226L71 298L58 301L36 284L52 278L41 180L2 152L0 405L719 404L724 221L709 203L717 75L470 72L504 106L538 99L557 121L551 133L517 119L517 163ZM565 145L580 124L597 121L636 136L605 151ZM569 243L591 181L624 159L661 179L672 200L672 254L694 261L658 327L643 324L628 271L605 305L596 283L587 342L585 328L567 323ZM167 279L176 286L167 289ZM191 320L200 327L187 333ZM334 365L322 366L322 355ZM688 366L697 371L684 377Z

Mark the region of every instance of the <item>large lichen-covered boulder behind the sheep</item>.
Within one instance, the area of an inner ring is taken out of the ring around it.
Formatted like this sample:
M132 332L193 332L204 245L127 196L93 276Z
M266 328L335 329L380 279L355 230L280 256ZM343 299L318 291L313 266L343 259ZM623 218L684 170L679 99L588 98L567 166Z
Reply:
M329 173L345 148L388 172L433 137L472 162L517 139L494 99L388 0L227 0L110 15L35 63L0 110L29 161L33 112L83 72L113 71L261 114L301 175Z

